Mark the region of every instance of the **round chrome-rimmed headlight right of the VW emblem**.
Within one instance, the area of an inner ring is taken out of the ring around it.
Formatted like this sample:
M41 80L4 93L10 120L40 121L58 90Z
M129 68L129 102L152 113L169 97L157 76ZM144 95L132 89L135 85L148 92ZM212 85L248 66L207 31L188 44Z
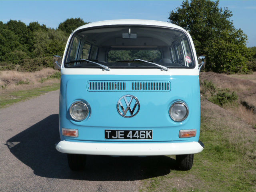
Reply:
M188 116L188 106L183 101L176 101L171 105L169 114L172 120L181 122Z

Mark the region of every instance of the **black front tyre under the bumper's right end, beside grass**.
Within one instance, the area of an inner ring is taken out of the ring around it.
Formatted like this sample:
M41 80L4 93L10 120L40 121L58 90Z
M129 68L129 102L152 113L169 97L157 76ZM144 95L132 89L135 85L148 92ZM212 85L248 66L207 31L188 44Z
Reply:
M188 171L193 166L194 154L176 155L177 168L179 170Z

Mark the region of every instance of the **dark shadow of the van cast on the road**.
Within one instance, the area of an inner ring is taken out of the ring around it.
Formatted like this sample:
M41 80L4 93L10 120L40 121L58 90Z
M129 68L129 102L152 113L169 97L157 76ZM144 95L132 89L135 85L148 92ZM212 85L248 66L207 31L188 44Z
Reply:
M34 174L47 178L126 181L162 176L174 169L175 160L167 156L88 156L86 170L72 172L66 154L55 149L54 144L59 140L58 114L54 114L10 138L6 144Z

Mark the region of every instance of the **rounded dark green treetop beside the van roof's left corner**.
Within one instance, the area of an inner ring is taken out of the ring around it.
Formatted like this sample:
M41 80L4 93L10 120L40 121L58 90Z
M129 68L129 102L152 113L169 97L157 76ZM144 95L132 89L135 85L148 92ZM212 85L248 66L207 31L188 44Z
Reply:
M75 30L76 28L85 24L87 23L81 18L70 18L60 23L58 29L70 34L72 30Z

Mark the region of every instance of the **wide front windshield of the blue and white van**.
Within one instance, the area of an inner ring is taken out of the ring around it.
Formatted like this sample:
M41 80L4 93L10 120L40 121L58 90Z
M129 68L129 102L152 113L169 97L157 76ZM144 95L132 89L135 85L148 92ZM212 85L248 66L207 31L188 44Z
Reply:
M194 60L189 40L179 30L127 26L76 33L68 46L65 67L102 68L99 64L110 69L193 68Z

